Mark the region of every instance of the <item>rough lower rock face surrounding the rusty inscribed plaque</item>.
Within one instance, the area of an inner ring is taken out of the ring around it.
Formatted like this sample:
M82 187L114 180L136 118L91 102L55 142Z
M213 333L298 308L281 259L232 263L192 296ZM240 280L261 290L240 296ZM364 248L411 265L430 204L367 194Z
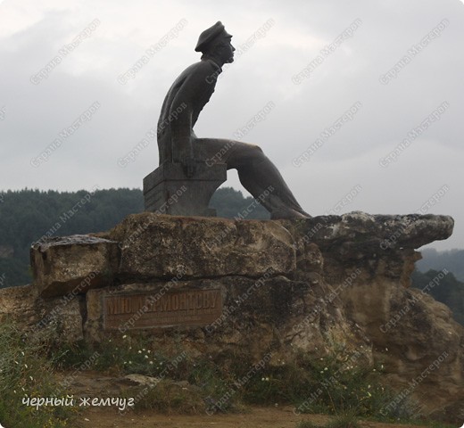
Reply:
M275 360L291 359L293 348L319 358L334 350L336 338L342 338L351 350L367 345L360 329L344 318L336 307L325 303L320 290L285 276L258 280L224 276L175 284L124 284L111 290L91 290L87 292L87 339L98 342L108 334L104 331L104 295L149 292L157 296L167 287L170 292L186 288L221 291L224 310L222 316L210 325L156 328L147 332L161 342L166 334L180 335L183 344L194 352L216 357L246 354L258 361L265 350L271 349ZM318 304L323 309L317 315L311 314ZM128 333L127 326L121 323L120 331L115 333L120 336ZM371 358L368 346L365 358Z

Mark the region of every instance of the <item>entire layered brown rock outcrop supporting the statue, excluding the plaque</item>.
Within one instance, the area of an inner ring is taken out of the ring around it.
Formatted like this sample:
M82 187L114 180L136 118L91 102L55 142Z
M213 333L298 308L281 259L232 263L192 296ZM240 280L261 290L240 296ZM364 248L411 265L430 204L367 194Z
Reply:
M407 395L424 414L457 420L464 410L464 327L444 305L408 289L420 258L415 249L446 239L452 227L452 218L432 215L258 221L143 213L105 234L42 243L31 259L37 294L62 294L72 311L80 309L73 337L121 335L104 331L105 296L217 289L217 322L143 333L160 346L175 338L219 360L258 359L272 350L269 364L279 364L298 350L314 358L341 346L361 351L359 363L384 364L386 381L399 391L413 383ZM95 281L79 287L88 276ZM37 302L57 301L23 293L8 299L24 300L21 310L34 319Z

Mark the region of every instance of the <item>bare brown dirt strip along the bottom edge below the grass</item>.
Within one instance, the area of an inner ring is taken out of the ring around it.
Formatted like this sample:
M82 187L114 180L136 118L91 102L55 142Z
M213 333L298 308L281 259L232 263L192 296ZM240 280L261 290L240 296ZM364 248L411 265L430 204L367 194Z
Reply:
M167 416L148 411L120 416L114 409L94 407L79 416L75 426L76 428L295 428L300 421L311 421L314 424L323 425L329 420L329 416L323 415L296 416L292 407L250 407L246 413L242 414L212 416ZM418 428L418 425L374 422L361 422L360 426L363 428Z

